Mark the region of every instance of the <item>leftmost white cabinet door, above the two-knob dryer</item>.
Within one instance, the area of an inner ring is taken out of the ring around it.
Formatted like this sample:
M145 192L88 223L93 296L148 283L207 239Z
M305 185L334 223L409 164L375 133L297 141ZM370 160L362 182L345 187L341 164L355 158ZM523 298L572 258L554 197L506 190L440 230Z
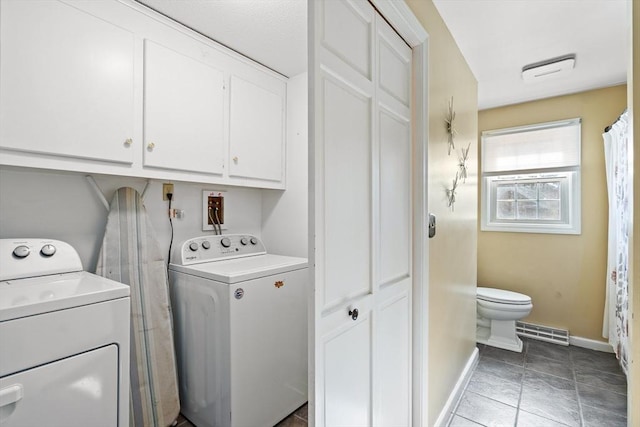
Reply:
M132 163L133 34L57 1L0 2L0 146Z

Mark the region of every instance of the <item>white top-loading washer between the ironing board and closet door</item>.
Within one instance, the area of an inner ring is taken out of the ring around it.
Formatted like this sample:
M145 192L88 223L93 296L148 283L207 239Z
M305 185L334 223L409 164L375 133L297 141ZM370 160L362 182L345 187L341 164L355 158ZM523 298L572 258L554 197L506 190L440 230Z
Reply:
M180 403L198 427L273 426L307 401L307 259L205 236L170 265Z

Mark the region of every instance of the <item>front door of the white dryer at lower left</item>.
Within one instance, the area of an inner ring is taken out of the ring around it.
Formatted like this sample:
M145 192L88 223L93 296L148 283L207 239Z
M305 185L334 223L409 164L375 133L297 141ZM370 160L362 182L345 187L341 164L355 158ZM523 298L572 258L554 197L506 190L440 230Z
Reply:
M117 426L118 347L0 378L0 424Z

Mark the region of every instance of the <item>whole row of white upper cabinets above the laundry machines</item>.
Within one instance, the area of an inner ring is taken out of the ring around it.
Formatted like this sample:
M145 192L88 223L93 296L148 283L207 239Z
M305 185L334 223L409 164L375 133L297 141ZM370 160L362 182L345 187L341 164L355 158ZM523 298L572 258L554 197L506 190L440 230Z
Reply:
M133 0L0 24L0 164L285 188L286 77Z

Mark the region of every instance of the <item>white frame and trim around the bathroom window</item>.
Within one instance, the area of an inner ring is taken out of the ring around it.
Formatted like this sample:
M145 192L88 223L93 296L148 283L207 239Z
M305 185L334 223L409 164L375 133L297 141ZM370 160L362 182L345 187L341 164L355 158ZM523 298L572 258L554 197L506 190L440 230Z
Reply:
M531 131L545 129L560 123L580 123L580 119L563 120L560 122L541 123L537 125L515 127L509 129L498 129L495 131L486 131L482 133L484 139L490 135L500 135L511 133L514 131ZM581 144L580 144L581 145ZM579 149L581 147L579 146ZM482 150L482 160L484 161L484 150ZM581 153L579 154L581 156ZM580 162L582 163L582 162ZM481 178L481 212L480 212L480 230L481 231L498 231L498 232L515 232L515 233L537 233L537 234L573 234L582 233L581 224L581 165L569 168L548 168L536 170L518 170L518 171L501 171L501 172L482 172ZM499 182L496 178L529 174L546 174L556 173L567 179L567 190L563 193L562 209L567 210L566 219L561 222L550 221L504 221L495 219L495 206L492 206L492 183Z

